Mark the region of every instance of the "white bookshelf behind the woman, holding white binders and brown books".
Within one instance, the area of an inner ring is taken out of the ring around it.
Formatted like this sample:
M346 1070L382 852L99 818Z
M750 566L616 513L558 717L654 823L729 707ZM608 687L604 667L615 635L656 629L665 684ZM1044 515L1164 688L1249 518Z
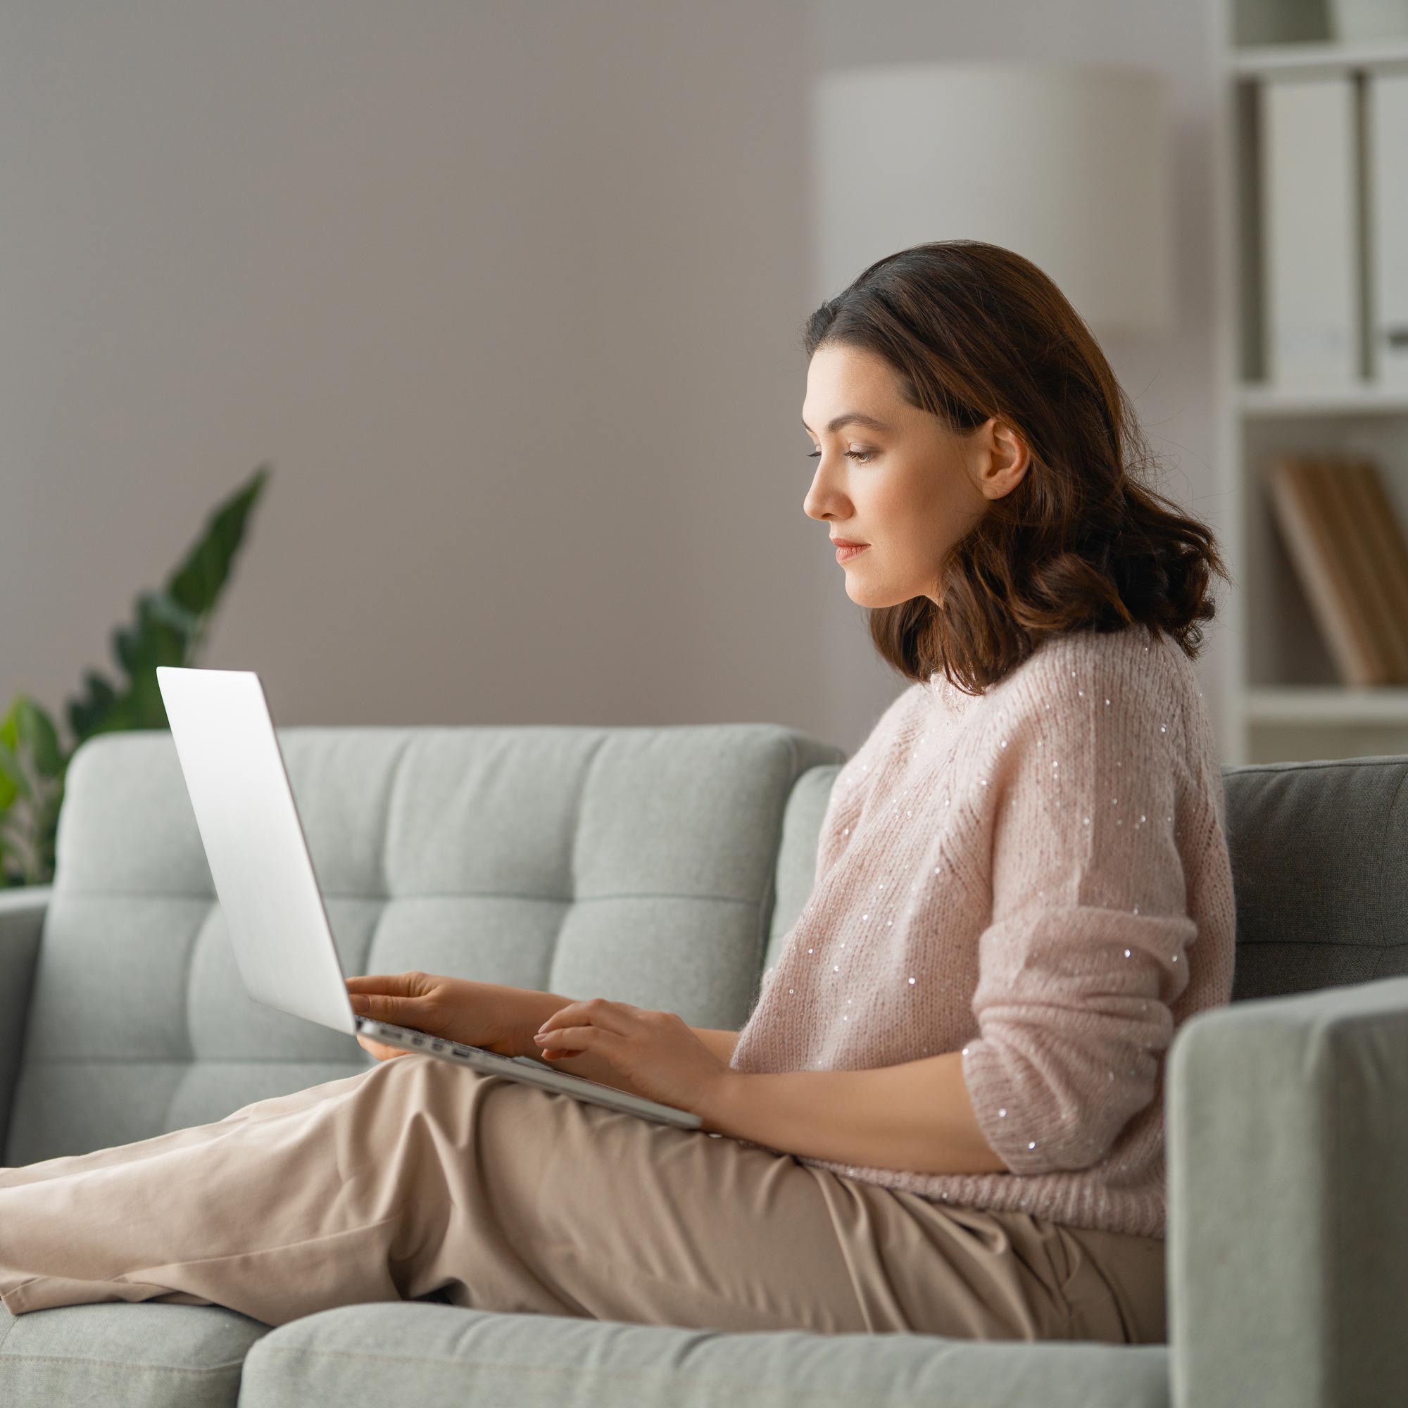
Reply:
M1339 681L1271 517L1277 453L1369 455L1408 524L1408 391L1367 377L1283 389L1266 380L1257 84L1288 72L1408 65L1402 38L1336 42L1332 0L1211 0L1217 63L1214 221L1217 453L1229 493L1219 590L1232 645L1224 700L1229 765L1408 753L1408 687ZM1405 158L1408 159L1408 158ZM1367 180L1360 165L1357 180ZM1408 258L1408 251L1404 252ZM1367 365L1367 363L1366 363Z

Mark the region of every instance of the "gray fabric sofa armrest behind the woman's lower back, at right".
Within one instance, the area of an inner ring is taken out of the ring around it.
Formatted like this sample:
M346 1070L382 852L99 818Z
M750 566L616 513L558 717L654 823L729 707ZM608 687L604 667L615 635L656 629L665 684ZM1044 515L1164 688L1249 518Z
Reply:
M1190 1018L1169 1053L1174 1408L1408 1385L1408 977Z

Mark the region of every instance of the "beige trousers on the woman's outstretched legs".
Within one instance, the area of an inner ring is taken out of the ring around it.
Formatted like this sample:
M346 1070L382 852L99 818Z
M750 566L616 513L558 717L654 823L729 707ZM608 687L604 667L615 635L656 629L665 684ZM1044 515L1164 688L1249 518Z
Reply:
M935 1204L422 1053L0 1169L0 1302L441 1293L698 1329L1164 1339L1163 1239Z

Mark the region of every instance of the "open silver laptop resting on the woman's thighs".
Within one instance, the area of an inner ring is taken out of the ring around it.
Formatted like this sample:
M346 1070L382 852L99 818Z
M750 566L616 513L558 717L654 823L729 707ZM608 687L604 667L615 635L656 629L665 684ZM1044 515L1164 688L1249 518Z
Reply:
M615 1086L360 1017L332 939L269 701L253 670L156 667L239 976L265 1007L680 1129L703 1119Z

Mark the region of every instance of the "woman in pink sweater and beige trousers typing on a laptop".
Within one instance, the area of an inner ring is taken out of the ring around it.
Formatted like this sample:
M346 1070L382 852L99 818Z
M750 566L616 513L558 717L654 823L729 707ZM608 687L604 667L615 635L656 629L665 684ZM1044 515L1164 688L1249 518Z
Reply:
M1018 255L881 259L805 351L804 508L859 545L838 552L848 594L910 687L835 779L743 1029L348 981L373 1017L703 1132L362 1039L380 1062L360 1074L0 1170L11 1314L158 1300L277 1325L439 1294L729 1331L1164 1338L1164 1060L1232 991L1188 663L1226 573L1131 477L1124 391Z

